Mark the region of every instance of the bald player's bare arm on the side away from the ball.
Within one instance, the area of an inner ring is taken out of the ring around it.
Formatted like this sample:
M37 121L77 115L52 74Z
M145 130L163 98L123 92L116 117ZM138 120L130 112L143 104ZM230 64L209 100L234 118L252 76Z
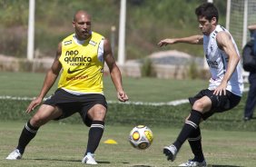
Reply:
M62 65L59 62L59 57L62 54L62 45L61 43L58 45L58 49L54 58L54 63L52 64L52 67L48 70L44 77L44 84L43 87L39 93L39 95L28 105L26 109L26 113L30 113L34 110L36 106L38 106L40 103L42 103L44 96L53 86L54 82L56 81L58 74L60 73L62 69Z

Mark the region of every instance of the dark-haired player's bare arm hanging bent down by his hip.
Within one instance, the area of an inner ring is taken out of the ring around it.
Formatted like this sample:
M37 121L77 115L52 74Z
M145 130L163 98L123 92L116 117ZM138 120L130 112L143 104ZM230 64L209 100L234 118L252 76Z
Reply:
M235 71L237 64L240 61L240 56L236 53L235 46L231 41L231 35L226 32L220 32L217 34L217 44L222 49L229 58L228 69L226 74L222 79L222 83L214 90L214 94L222 95L222 93L226 94L227 83L231 78L231 75Z

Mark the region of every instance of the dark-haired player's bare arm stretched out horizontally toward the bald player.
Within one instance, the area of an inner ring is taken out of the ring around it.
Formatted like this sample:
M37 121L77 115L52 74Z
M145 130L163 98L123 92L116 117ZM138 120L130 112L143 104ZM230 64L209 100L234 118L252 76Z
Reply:
M201 34L196 34L188 37L182 38L167 38L161 40L158 45L162 47L167 44L177 44L177 43L186 43L186 44L202 44L203 36Z

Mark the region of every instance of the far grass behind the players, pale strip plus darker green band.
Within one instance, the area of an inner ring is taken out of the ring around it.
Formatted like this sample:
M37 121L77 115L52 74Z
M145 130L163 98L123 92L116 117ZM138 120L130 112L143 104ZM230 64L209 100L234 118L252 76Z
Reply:
M34 97L39 93L44 74L27 73L0 73L0 95ZM105 95L107 100L116 101L113 83L109 76L105 77ZM202 80L162 80L157 78L123 78L123 84L130 101L142 102L169 102L172 100L187 98L197 93L202 87L206 87L207 81ZM56 88L54 85L50 93ZM247 93L244 93L241 103L229 112L213 115L207 123L202 123L202 128L210 130L231 131L256 131L256 122L242 121ZM32 114L25 114L25 109L30 101L0 100L0 120L27 121ZM178 106L150 106L109 103L107 124L133 125L146 124L149 126L172 125L173 128L182 128L184 118L191 110L189 103ZM81 123L78 114L69 117L62 123Z

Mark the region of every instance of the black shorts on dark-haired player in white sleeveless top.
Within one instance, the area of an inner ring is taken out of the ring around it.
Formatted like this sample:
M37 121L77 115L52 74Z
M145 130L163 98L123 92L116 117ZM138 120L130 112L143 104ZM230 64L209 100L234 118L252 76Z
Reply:
M214 91L210 91L209 89L202 90L200 93L196 94L194 97L190 97L189 101L193 105L195 101L201 99L203 96L207 96L212 101L212 108L209 112L202 114L202 119L206 120L213 113L222 113L228 110L231 110L241 101L241 96L235 95L230 91L226 91L226 95L215 95Z

